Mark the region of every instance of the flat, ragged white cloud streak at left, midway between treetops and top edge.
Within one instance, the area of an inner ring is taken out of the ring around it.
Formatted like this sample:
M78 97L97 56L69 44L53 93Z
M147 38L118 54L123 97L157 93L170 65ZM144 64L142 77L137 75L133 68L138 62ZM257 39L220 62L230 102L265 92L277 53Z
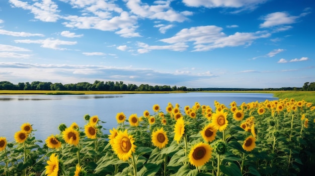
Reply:
M15 40L15 43L25 43L25 44L42 44L43 48L50 48L54 50L66 50L65 48L58 48L59 45L75 45L76 42L62 41L62 40L54 40L52 38L48 38L45 40Z

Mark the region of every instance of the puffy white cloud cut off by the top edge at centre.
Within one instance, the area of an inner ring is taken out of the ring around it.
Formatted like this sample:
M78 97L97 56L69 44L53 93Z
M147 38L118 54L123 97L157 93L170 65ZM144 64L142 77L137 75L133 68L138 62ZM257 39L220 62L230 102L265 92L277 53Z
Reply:
M133 14L143 18L165 20L169 22L183 22L187 20L185 14L191 13L178 13L171 7L171 1L154 1L156 5L149 6L146 3L141 3L140 0L125 0L127 7Z

